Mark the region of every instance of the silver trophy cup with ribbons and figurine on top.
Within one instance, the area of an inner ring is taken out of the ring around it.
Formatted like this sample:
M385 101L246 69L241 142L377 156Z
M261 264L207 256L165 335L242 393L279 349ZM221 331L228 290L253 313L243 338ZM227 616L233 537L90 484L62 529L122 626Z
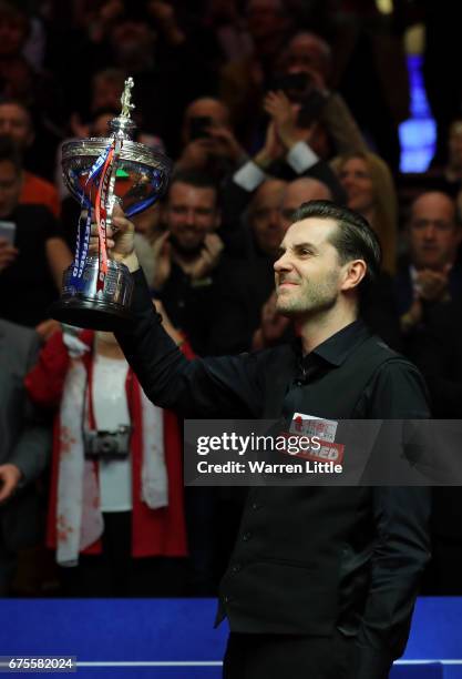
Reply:
M132 88L129 78L110 136L71 141L62 149L64 181L82 210L74 262L64 272L52 316L78 327L113 331L130 320L132 276L124 264L107 257L106 229L115 204L129 217L152 205L172 170L168 158L131 139L136 126L130 114ZM92 223L97 224L99 256L88 254Z

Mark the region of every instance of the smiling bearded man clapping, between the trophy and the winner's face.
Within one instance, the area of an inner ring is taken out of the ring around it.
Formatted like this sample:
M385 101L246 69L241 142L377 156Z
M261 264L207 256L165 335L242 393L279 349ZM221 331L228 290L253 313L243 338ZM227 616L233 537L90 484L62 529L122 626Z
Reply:
M216 353L214 328L229 273L223 242L215 233L220 215L213 180L199 171L178 171L170 184L164 221L166 231L153 247L154 294L196 354ZM217 496L214 488L187 488L185 501L191 591L209 596L216 588L220 533L216 530Z

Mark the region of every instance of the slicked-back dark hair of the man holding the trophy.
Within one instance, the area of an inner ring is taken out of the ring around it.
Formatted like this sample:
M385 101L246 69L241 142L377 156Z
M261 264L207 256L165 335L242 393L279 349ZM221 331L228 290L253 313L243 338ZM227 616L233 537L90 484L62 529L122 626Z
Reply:
M362 215L331 201L309 201L295 212L292 223L310 217L332 220L337 230L329 242L337 250L341 264L363 260L367 271L361 287L369 286L380 273L382 249L376 232Z

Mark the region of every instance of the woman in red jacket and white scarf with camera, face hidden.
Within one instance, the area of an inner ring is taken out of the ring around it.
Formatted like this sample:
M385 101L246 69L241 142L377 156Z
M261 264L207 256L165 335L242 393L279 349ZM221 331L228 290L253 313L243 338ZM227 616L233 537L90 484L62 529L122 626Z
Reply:
M55 333L25 383L37 404L57 408L47 544L64 595L182 596L176 416L146 399L112 333Z

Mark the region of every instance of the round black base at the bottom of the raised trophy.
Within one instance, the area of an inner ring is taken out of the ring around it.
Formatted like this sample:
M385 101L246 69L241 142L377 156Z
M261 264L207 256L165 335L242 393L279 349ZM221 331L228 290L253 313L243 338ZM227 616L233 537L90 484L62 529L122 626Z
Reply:
M122 330L132 318L129 311L107 302L82 297L61 297L51 307L51 316L60 323L95 331L113 332Z

